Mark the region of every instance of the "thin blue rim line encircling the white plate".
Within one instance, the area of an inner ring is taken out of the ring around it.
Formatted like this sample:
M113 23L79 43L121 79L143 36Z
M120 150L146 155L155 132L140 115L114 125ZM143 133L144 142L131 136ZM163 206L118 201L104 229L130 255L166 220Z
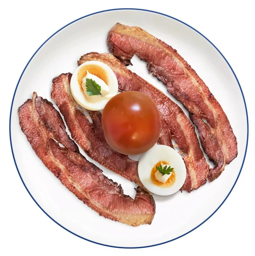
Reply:
M91 16L91 15L94 15L94 14L97 14L97 13L101 13L101 12L110 12L110 11L117 11L117 10L138 10L138 11L145 11L145 12L153 12L153 13L157 13L157 14L160 14L160 15L163 15L163 16L166 16L166 17L169 17L169 18L172 18L172 19L174 19L174 20L177 20L177 21L179 21L179 22L185 24L186 26L189 26L187 23L185 23L185 22L183 22L183 21L181 21L181 20L178 20L178 19L176 19L176 18L174 18L174 17L172 17L172 16L169 16L169 15L166 15L166 14L163 14L163 13L160 13L160 12L150 11L150 10L146 10L146 9L135 9L135 8L118 8L118 9L109 9L109 10L104 10L104 11L100 11L100 12L94 12L94 13L91 13L91 14L89 14L89 15L80 17L80 18L77 19L77 20L81 20L81 19L83 19L83 18L85 18L85 17ZM74 21L68 23L66 26L69 26L70 24L76 22L77 20L74 20ZM36 50L36 52L34 52L33 56L30 58L29 62L26 64L26 67L29 65L30 61L32 60L32 58L34 58L34 55L40 50L40 48L41 48L50 38L52 38L55 34L57 34L58 32L60 32L60 30L64 29L66 26L63 26L61 29L57 30L57 32L55 32L53 35L51 35L51 36ZM189 27L190 27L191 29L195 30L196 32L198 32L198 34L200 34L201 36L203 36L203 38L205 38L210 44L212 44L212 42L211 42L208 38L206 38L203 34L201 34L198 30L194 29L192 26L189 26ZM235 75L234 70L232 69L232 67L230 66L229 62L226 60L226 58L223 56L223 54L220 52L220 50L219 50L214 44L212 44L212 46L215 47L215 49L221 54L221 56L224 58L224 60L226 61L226 63L229 65L229 68L231 69L232 73L233 73L234 76L235 76L236 81L238 82L239 88L240 88L240 90L241 90L241 93L242 93L242 96L243 96L243 99L244 99L243 90L242 90L241 85L240 85L240 83L239 83L239 81L238 81L238 79L237 79L237 77L236 77L236 75ZM25 70L26 70L26 67L24 68L23 72L21 73L20 79L22 78L23 73L24 73ZM9 120L10 143L11 143L11 112L12 112L12 106L13 106L13 102L14 102L14 97L15 97L15 94L16 94L16 91L17 91L17 87L18 87L18 85L19 85L19 83L20 83L20 79L19 79L19 81L18 81L18 83L17 83L17 86L16 86L16 88L15 88L14 95L13 95L12 102L11 102L11 111L10 111L10 120ZM238 180L238 178L239 178L239 176L240 176L241 170L243 169L243 166L244 166L244 160L245 160L246 152L247 152L248 137L249 137L249 122L248 122L248 112L247 112L247 108L246 108L245 99L244 99L244 106L245 106L246 119L247 119L247 139L246 139L246 148L245 148L244 159L243 159L243 162L242 162L242 165L241 165L240 172L238 173L238 176L237 176L237 178L236 178L236 180L235 180L234 185L233 185L232 188L230 189L229 194L232 192L232 189L234 188L234 186L235 186L235 184L236 184L236 182L237 182L237 180ZM13 148L12 148L12 143L11 143L11 152L12 152L12 156L13 156L14 163L15 163L15 166L16 166L16 168L17 168L18 174L20 175L20 172L19 172L19 169L18 169L16 160L15 160L15 157L14 157ZM21 175L20 175L20 179L21 179L23 185L25 186L27 192L29 193L29 195L32 197L32 199L33 199L34 202L38 205L38 207L40 207L40 205L37 203L37 201L35 201L35 199L34 199L33 196L31 195L31 193L29 192L28 188L26 187L26 184L24 183L24 181L23 181ZM215 214L215 212L218 211L218 209L222 206L222 204L223 204L223 203L226 201L226 199L228 198L229 194L228 194L228 195L226 196L226 198L223 200L223 202L221 203L221 205L220 205L208 218L206 218L206 220L204 220L204 221L203 221L201 224L199 224L197 227L193 228L192 230L190 230L189 232L187 232L187 233L185 233L185 234L183 234L183 235L181 235L181 236L176 237L175 239L171 239L171 240L169 240L169 241L165 241L165 242L162 242L162 243L160 243L160 244L165 244L165 243L174 241L174 240L176 240L176 239L178 239L178 238L180 238L180 237L182 237L182 236L187 235L188 233L192 232L193 230L195 230L196 228L198 228L199 226L201 226L204 222L206 222L209 218L211 218L212 215ZM60 227L63 227L61 224L59 224L57 221L55 221L49 214L47 214L47 212L45 212L42 207L40 207L40 209L41 209L49 218L51 218L52 221L54 221L55 223L57 223ZM82 238L82 239L84 239L84 240L86 240L86 241L90 241L90 242L92 242L92 243L100 244L100 245L104 245L104 246L108 246L108 247L125 248L125 249L129 249L129 248L130 248L130 249L135 249L135 248L146 248L146 247L152 247L152 246L160 245L160 244L152 244L152 245L141 246L141 247L120 247L120 246L114 246L114 245L109 245L109 244L101 244L101 243L98 243L98 242L95 242L95 241L91 241L91 240L89 240L89 239L86 239L86 238L84 238L84 237L82 237L82 236L79 236L79 235L73 233L72 231L68 230L68 229L65 228L65 227L63 227L63 229L69 231L69 232L72 233L73 235L78 236L78 237L80 237L80 238Z

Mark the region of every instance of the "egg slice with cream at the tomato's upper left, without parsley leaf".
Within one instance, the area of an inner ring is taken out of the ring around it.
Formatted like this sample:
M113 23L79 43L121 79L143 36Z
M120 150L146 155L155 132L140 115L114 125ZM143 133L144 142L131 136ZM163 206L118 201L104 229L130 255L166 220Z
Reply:
M86 78L95 81L101 95L90 96L86 92ZM107 87L109 87L109 89ZM102 110L106 103L118 93L118 81L112 69L100 61L87 61L74 71L70 88L75 101L88 110Z

